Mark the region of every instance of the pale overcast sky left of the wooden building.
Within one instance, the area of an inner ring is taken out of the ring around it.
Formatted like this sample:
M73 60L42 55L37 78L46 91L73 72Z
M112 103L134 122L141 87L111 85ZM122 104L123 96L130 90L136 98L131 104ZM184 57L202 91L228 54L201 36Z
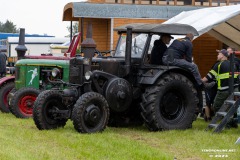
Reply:
M82 0L0 0L0 21L13 22L28 34L68 35L68 21L62 21L63 8Z

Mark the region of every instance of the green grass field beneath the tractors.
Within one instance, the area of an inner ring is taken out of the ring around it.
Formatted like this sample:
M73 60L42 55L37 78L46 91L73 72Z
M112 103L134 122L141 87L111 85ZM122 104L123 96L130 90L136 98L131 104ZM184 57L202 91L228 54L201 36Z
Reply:
M39 131L32 119L0 113L1 160L237 160L239 129L206 132L198 119L193 128L149 132L144 126L79 134L69 120L64 128Z

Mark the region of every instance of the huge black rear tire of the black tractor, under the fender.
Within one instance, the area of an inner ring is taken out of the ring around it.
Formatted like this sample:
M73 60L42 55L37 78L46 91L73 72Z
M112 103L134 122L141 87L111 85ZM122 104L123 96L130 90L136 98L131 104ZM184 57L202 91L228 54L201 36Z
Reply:
M169 73L146 89L142 117L150 131L191 128L197 103L192 82L181 74Z

